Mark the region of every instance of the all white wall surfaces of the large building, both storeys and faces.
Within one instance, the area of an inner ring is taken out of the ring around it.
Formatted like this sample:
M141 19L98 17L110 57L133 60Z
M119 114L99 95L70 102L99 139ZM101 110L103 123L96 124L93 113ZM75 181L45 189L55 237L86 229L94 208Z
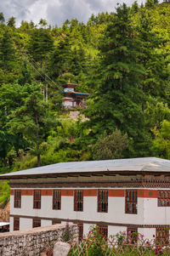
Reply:
M21 208L14 208L14 196L10 198L10 213L14 215L55 219L79 219L89 222L116 223L116 225L169 225L170 223L170 207L157 207L157 198L139 197L137 214L125 213L125 197L121 196L109 196L108 213L97 212L97 196L83 197L83 212L74 211L74 196L61 196L61 210L53 210L53 196L42 196L41 209L33 209L33 196L21 196ZM10 230L13 230L13 218L10 221ZM42 225L51 225L51 220L42 220ZM25 226L26 229L32 228L32 222L26 219L25 225L24 219L21 218L20 229L25 229ZM89 226L84 225L84 234L87 233ZM110 226L108 233L117 233L123 229L124 227L117 228ZM151 229L144 229L143 232L147 236L153 236L151 234L153 230Z

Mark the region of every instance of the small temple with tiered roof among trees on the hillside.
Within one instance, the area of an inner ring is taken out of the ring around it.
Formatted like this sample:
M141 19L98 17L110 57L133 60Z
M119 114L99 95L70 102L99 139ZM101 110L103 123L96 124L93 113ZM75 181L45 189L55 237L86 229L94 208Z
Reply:
M61 92L60 94L63 94L64 96L63 106L65 109L71 109L77 106L86 108L86 99L89 94L75 92L75 87L77 86L75 83L67 82L62 86L64 92Z

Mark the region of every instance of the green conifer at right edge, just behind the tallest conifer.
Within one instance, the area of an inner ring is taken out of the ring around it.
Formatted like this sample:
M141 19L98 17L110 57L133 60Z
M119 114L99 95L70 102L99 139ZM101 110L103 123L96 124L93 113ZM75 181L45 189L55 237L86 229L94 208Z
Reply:
M168 85L169 71L166 54L161 50L164 40L152 31L150 16L147 12L141 11L139 19L140 63L144 65L142 87L144 94L154 98L165 99ZM145 103L143 104L143 109Z

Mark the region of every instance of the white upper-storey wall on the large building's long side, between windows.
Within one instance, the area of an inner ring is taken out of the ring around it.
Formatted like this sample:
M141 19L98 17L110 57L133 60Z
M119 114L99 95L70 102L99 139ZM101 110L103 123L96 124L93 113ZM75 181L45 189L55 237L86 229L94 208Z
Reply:
M42 196L41 209L33 208L33 196L21 196L21 208L14 208L11 196L11 214L42 218L80 219L92 222L112 222L116 224L143 224L143 198L138 199L138 214L125 213L124 197L108 198L108 213L97 212L97 196L83 197L83 212L74 211L74 196L61 196L61 210L53 210L53 196Z

